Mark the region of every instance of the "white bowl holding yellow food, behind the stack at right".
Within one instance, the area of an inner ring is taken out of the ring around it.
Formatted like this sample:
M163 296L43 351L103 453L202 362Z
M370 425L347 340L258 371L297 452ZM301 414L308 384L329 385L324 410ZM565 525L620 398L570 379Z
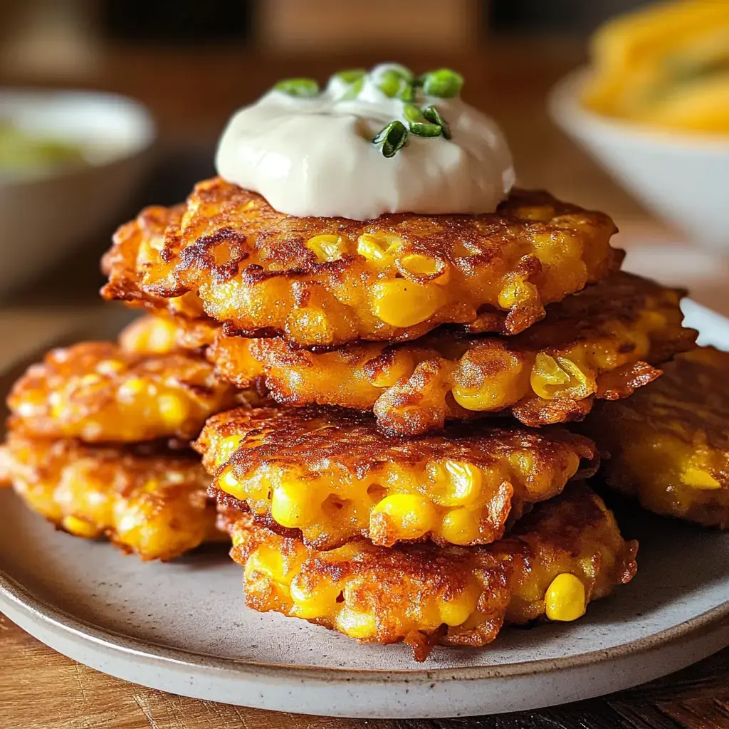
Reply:
M553 88L553 120L658 217L729 253L729 135L664 132L590 112L581 103L589 73L574 71Z

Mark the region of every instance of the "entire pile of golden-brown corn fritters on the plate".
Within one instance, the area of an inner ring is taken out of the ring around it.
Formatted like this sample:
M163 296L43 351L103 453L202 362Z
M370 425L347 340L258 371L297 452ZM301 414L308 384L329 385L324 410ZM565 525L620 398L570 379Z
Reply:
M152 316L31 367L2 470L143 558L213 534L217 502L249 607L419 660L574 620L636 571L583 483L601 454L654 510L729 521L729 355L690 351L682 292L621 273L614 232L544 192L357 222L201 182L117 231L102 294Z

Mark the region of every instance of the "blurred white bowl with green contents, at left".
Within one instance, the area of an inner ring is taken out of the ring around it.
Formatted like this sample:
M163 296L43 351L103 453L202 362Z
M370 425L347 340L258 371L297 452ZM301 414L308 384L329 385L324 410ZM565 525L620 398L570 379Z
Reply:
M155 139L147 109L90 91L0 89L0 120L79 144L88 162L47 174L0 174L0 292L93 235L111 233Z

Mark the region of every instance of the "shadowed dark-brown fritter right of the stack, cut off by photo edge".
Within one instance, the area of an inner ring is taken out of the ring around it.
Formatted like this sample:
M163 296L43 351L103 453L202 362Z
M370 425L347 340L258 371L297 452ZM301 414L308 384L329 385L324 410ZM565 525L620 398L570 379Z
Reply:
M729 352L696 348L627 400L582 424L601 450L607 482L644 507L729 527Z

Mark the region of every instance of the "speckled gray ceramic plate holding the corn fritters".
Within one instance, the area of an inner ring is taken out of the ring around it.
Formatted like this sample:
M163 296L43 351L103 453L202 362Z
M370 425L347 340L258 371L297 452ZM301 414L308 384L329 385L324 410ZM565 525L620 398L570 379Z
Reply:
M687 303L705 343L729 321ZM213 701L309 714L445 717L532 709L636 685L729 644L729 533L631 510L639 573L576 623L504 631L483 650L339 634L243 606L225 548L142 564L55 532L0 491L0 609L71 658L132 682Z

